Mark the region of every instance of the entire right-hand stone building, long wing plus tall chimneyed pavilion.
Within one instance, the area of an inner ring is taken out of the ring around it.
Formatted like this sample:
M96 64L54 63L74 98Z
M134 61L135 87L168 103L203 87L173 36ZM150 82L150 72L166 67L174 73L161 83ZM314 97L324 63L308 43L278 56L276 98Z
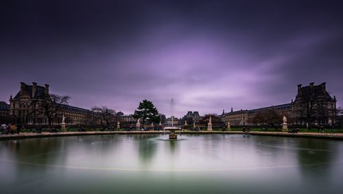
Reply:
M220 115L222 121L230 122L230 125L252 125L250 121L255 117L257 112L264 110L276 110L281 115L287 115L289 123L305 125L307 113L306 109L313 119L314 125L333 125L335 123L336 115L336 99L331 97L327 92L326 83L315 86L314 83L309 86L302 87L298 85L298 94L296 99L289 104L281 104L276 106L268 106L257 108L253 110L238 110L231 112L224 112ZM282 118L280 118L280 123Z

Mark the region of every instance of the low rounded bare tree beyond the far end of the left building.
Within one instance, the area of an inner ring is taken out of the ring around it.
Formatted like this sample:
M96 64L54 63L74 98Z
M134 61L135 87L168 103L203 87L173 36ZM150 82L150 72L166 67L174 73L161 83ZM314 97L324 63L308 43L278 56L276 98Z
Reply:
M102 128L109 128L110 123L115 119L115 110L107 108L107 106L94 106L91 111L93 119Z

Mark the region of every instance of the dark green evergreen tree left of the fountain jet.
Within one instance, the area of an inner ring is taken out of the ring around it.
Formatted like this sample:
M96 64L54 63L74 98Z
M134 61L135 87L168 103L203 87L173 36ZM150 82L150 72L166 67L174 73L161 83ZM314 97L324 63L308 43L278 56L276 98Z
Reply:
M134 110L132 115L134 119L141 119L141 123L158 123L160 122L160 115L158 115L158 110L152 104L152 101L147 99L141 101L137 110Z

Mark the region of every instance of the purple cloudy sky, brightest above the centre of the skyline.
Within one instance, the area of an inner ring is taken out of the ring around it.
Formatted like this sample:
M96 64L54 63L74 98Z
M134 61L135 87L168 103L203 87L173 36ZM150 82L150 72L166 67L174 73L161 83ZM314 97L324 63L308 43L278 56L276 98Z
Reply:
M170 115L286 104L327 82L343 103L343 1L0 3L0 101L50 84L82 108Z

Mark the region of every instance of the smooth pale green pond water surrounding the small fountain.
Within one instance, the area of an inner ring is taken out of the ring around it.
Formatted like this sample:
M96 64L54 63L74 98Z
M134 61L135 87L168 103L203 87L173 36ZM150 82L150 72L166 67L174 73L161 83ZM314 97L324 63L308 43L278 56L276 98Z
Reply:
M251 135L0 141L1 193L342 193L343 142Z

